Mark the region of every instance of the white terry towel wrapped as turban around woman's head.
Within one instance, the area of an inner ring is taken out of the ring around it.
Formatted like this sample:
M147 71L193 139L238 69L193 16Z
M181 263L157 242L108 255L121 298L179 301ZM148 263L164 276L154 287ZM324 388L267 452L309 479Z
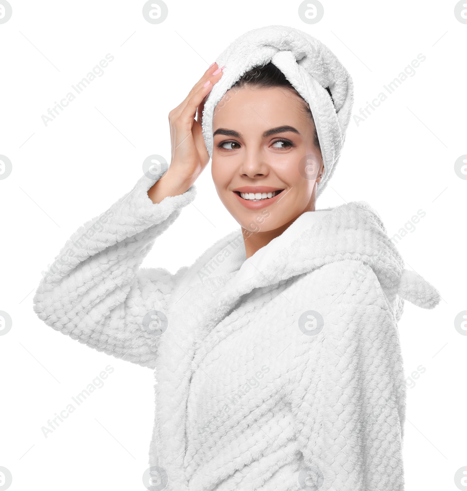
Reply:
M344 145L354 85L329 48L300 29L268 26L250 30L216 58L219 67L225 65L225 68L204 105L202 128L206 148L212 157L214 112L228 104L226 99L220 102L223 95L253 66L270 61L309 104L313 114L325 168L324 177L318 183L319 196L334 173Z

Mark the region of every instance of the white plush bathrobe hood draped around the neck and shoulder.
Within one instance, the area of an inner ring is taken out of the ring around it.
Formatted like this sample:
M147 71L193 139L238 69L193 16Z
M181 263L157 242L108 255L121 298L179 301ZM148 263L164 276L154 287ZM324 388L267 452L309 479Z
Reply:
M387 236L381 218L365 201L305 212L248 259L242 232L235 230L198 258L180 287L196 288L209 279L216 282L218 276L233 274L217 293L218 300L228 302L254 288L343 259L356 259L370 266L391 304L409 300L419 307L433 308L440 301L435 288L404 268L402 256Z

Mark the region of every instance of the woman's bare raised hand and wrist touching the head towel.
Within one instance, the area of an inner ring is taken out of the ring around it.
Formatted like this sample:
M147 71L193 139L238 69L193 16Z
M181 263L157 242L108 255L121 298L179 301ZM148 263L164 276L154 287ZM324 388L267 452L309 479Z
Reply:
M202 114L206 97L222 77L222 69L213 63L185 100L168 113L172 158L168 170L148 191L153 203L190 189L209 162L201 129Z

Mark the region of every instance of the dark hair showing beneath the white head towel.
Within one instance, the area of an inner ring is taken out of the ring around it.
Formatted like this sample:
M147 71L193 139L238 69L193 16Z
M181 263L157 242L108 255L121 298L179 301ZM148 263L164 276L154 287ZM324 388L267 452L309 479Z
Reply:
M295 87L285 78L285 75L275 66L274 63L266 63L265 65L257 65L252 67L250 70L245 72L238 82L235 82L231 88L241 89L243 87L283 87L285 89L291 90L297 94L303 101L303 109L307 116L310 117L314 126L314 136L313 141L317 148L321 151L320 142L318 140L318 134L316 133L316 125L314 124L313 114L308 103L302 98L302 96L297 92ZM327 87L328 93L331 96L330 90ZM332 96L331 96L332 99Z

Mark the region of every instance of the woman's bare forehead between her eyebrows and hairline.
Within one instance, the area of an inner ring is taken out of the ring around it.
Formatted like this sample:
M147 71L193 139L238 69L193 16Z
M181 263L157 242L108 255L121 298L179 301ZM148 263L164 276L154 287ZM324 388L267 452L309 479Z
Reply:
M213 131L218 128L274 128L281 125L310 124L303 110L303 99L283 87L243 87L229 89L213 115Z

